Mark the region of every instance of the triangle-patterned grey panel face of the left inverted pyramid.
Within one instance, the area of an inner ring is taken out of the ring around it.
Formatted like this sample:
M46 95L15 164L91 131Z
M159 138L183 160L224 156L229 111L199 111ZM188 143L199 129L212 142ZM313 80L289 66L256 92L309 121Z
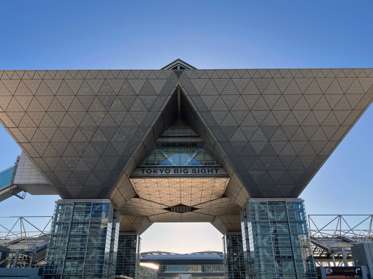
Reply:
M1 77L2 124L60 196L104 198L172 71L22 73Z

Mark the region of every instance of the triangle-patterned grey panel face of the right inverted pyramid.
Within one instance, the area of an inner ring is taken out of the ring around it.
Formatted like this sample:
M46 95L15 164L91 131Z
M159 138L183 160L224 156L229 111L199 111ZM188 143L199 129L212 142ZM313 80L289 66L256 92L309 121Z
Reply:
M373 97L372 69L185 70L180 81L251 197L299 196Z

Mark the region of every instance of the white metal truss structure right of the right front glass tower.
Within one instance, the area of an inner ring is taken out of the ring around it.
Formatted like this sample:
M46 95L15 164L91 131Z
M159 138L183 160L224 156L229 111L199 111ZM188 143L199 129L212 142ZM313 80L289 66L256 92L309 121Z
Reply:
M308 215L308 224L318 266L351 266L351 246L373 241L373 215Z

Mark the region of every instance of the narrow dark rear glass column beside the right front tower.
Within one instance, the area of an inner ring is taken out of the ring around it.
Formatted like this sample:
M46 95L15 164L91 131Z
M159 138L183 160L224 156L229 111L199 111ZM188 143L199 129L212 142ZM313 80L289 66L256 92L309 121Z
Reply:
M241 232L226 232L222 238L225 279L245 279Z

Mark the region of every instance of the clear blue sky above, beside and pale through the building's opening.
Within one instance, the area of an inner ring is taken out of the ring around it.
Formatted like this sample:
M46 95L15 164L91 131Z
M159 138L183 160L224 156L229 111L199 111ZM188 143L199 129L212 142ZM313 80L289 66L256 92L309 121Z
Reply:
M3 1L1 69L373 67L373 1ZM372 214L373 108L301 194L308 214ZM0 127L0 169L20 148ZM51 215L57 196L1 216ZM142 250L221 250L210 224L154 224Z

